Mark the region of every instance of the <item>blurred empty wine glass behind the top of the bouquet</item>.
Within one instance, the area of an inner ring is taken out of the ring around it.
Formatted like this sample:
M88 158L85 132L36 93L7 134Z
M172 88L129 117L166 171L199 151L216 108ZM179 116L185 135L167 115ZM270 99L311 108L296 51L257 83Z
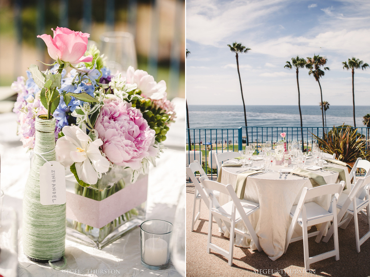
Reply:
M100 36L101 52L107 57L106 64L113 74L126 75L127 68L137 69L134 36L126 32L106 32Z

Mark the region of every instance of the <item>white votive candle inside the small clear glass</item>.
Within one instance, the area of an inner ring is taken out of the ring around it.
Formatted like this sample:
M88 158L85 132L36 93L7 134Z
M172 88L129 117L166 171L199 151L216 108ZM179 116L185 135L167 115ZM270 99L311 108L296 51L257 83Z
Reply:
M145 241L144 262L147 265L160 266L167 263L167 242L159 238Z

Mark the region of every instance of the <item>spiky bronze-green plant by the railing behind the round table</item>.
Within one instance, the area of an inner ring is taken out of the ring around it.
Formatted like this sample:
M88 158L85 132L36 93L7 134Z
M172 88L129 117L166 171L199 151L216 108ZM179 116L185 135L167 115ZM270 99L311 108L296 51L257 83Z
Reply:
M329 153L336 154L336 159L345 163L355 163L358 157L368 159L369 154L365 153L366 141L358 135L357 129L347 126L345 129L333 127L323 138L312 134L319 142L320 149Z

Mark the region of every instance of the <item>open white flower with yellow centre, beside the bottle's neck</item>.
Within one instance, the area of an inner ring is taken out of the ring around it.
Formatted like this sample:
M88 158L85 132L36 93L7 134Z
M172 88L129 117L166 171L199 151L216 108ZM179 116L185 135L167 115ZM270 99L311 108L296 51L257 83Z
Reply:
M77 175L86 184L93 185L101 178L101 173L109 169L109 161L102 156L99 147L103 145L99 138L94 142L77 126L64 126L64 136L55 146L57 161L65 167L75 163Z

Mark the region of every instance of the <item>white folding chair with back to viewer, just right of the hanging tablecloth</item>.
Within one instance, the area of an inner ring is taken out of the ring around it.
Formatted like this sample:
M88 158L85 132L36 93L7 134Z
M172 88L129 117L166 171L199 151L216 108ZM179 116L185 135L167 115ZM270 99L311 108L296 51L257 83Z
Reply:
M292 242L300 241L303 239L303 252L304 252L304 263L305 269L308 270L310 264L319 262L321 260L335 256L336 261L339 260L339 243L338 243L338 227L337 227L337 201L339 195L341 194L345 182L342 181L340 184L329 184L322 185L316 188L303 188L301 198L298 202L298 205L294 205L290 210L290 217L292 217L292 222L288 229L288 233L285 241L285 251L286 253L288 246ZM314 197L322 195L331 195L334 196L331 198L331 203L329 209L324 209L315 202L305 203L306 200L312 199ZM329 252L310 257L308 254L308 238L311 236L317 235L316 242L319 243L322 237L323 232L327 226L327 222L333 221L334 228L334 250ZM297 223L302 227L303 236L298 236L292 239L295 226ZM307 233L307 227L322 223L322 227L319 231Z

